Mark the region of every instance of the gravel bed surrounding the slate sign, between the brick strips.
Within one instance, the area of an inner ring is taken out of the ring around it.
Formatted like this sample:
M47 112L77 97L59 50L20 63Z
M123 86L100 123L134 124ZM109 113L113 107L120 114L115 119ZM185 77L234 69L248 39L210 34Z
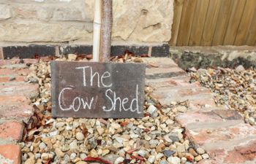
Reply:
M77 60L78 56L56 60ZM87 60L86 58L80 60ZM127 58L127 62L141 62ZM116 59L124 62L124 58ZM26 81L39 83L39 97L32 100L37 110L26 125L22 163L197 163L208 155L184 135L174 118L187 111L187 102L163 108L148 96L145 87L145 117L142 119L53 119L50 114L50 62L32 64ZM83 161L84 159L87 162Z

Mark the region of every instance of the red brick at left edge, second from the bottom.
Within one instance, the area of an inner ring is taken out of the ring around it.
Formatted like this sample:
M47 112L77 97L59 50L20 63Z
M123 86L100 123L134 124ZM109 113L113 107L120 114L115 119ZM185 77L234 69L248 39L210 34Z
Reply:
M20 141L23 125L20 122L4 122L0 124L0 138L4 140Z

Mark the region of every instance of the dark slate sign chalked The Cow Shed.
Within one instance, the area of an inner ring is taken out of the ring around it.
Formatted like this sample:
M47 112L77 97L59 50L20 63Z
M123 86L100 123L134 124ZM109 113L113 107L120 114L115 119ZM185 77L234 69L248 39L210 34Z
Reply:
M53 117L143 117L146 64L52 61Z

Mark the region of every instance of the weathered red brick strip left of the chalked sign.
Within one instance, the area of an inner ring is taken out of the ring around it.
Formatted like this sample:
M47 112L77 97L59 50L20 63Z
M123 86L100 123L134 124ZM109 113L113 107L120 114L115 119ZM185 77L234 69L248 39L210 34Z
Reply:
M0 60L0 163L20 163L23 122L34 114L30 98L38 95L38 85L24 82L28 64L37 60Z

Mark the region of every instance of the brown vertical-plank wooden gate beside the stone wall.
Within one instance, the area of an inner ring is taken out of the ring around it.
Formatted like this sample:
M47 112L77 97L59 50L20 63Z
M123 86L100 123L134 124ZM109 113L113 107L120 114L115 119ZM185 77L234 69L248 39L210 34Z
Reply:
M256 44L256 0L175 0L171 46Z

